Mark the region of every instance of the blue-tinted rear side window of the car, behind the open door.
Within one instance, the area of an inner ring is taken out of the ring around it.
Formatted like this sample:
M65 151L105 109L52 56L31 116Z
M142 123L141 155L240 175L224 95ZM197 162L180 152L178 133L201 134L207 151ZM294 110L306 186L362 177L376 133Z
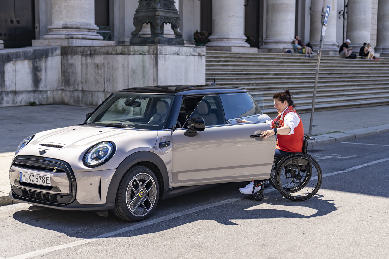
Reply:
M262 113L249 93L219 94L219 96L226 120L230 123L237 123L237 118L251 117Z

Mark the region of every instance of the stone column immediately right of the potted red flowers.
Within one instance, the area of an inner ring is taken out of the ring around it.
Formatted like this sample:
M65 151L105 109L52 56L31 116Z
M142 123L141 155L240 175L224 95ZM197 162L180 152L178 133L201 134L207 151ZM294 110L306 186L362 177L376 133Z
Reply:
M244 35L244 0L212 0L212 35L209 40L207 49L234 52L249 49Z

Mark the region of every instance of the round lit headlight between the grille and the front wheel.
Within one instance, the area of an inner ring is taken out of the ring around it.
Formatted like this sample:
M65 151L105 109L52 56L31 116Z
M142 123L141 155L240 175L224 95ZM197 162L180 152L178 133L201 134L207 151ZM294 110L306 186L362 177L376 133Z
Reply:
M115 154L116 146L111 142L101 142L86 151L82 159L85 166L96 167L103 165Z

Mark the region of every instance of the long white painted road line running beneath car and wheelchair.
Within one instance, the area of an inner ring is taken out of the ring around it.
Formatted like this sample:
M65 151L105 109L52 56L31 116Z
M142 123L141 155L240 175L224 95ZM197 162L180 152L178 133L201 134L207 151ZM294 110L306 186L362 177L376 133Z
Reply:
M326 174L323 175L323 177L327 177L327 176L330 176L330 175L336 175L338 173L350 172L352 170L356 170L356 169L362 168L364 166L374 165L374 164L377 164L377 163L380 163L380 162L384 162L384 161L387 161L387 160L389 160L389 158L383 158L383 159L371 161L369 163L358 165L358 166L354 166L354 167L348 168L348 169L343 170L343 171L338 171L338 172L334 172L334 173L326 173ZM275 189L272 188L272 189L265 190L264 193L270 193L272 191L275 191ZM216 207L216 206L219 206L219 205L231 203L231 202L238 201L238 200L244 200L246 198L248 198L247 195L242 196L242 197L238 197L238 198L228 199L228 200L225 200L225 201L219 201L219 202L216 202L216 203L211 203L211 204L203 205L203 206L196 207L196 208L191 208L189 210L184 210L182 212L173 213L173 214L166 215L166 216L163 216L163 217L160 217L160 218L157 218L157 219L153 219L151 221L142 222L142 223L135 224L135 225L127 227L127 228L122 228L122 229L118 229L116 231L105 233L103 235L96 236L94 238L82 239L82 240L78 240L78 241L75 241L75 242L72 242L72 243L67 243L67 244L63 244L63 245L56 245L54 247L47 247L45 249L29 252L29 253L26 253L26 254L21 254L19 256L9 257L8 259L25 259L25 258L30 258L30 257L34 257L34 256L40 256L42 254L47 254L49 252L65 249L65 248L68 248L68 247L75 247L77 245L83 245L83 244L90 243L90 242L93 242L93 241L96 241L96 240L100 240L100 239L103 239L103 238L108 238L110 236L114 236L114 235L118 235L118 234L121 234L121 233L124 233L124 232L127 232L127 231L131 231L131 230L134 230L134 229L143 228L143 227L149 226L151 224L155 224L155 223L158 223L158 222L167 221L169 219L173 219L173 218L180 217L180 216L183 216L183 215L191 214L191 213L199 211L199 210L205 210L207 208ZM4 258L0 258L0 259L4 259Z

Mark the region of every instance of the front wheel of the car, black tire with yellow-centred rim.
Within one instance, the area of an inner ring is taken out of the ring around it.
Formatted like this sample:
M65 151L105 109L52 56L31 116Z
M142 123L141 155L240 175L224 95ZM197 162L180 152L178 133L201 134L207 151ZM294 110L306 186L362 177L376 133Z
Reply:
M158 197L155 174L145 166L133 166L119 184L114 214L125 221L142 221L151 215Z

